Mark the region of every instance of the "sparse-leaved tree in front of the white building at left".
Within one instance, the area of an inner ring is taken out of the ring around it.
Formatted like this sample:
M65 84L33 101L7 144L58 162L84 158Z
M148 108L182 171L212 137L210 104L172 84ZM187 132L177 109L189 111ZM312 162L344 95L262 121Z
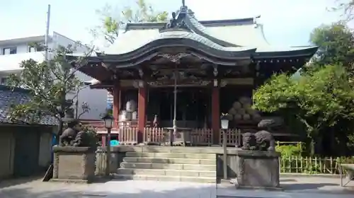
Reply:
M62 132L62 117L65 112L72 110L78 91L84 87L84 83L76 77L79 66L84 64L84 57L67 59L67 55L75 50L76 46L72 45L59 47L49 50L52 57L48 61L28 59L21 62L20 74L11 75L8 86L27 89L31 100L24 104L13 104L8 115L10 120L36 124L43 117L52 116L59 123L59 133ZM79 66L73 67L73 61ZM88 110L89 107L84 105L83 111Z

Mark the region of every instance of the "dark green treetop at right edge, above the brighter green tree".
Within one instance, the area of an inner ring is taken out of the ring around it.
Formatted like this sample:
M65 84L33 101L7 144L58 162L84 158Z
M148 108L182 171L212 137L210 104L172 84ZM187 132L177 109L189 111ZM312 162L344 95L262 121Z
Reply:
M350 69L354 58L354 35L346 23L321 25L310 35L310 42L319 46L314 64L342 64Z

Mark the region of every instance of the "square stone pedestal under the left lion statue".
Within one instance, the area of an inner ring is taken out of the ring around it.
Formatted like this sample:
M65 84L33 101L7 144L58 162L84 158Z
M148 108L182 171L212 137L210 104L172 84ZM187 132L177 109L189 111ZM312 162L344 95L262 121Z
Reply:
M96 148L53 146L53 152L53 181L93 181L95 177Z

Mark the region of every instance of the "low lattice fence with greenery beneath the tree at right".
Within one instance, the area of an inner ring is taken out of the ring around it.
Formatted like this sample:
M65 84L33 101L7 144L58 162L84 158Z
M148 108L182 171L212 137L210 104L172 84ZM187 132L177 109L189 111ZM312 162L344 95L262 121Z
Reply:
M353 158L311 158L302 156L279 159L280 173L307 173L338 175L341 163L353 163Z

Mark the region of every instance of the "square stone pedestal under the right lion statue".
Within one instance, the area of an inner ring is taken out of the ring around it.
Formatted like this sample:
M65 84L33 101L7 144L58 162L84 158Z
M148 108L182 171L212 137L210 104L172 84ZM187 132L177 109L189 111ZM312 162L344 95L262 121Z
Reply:
M279 156L273 151L239 151L236 187L280 190Z

